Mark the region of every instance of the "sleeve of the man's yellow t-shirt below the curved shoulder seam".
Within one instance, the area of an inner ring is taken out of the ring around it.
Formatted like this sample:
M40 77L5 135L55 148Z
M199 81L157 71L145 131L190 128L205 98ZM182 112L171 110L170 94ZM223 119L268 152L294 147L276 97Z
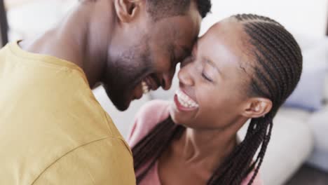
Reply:
M50 164L32 184L136 184L127 147L116 137L80 146Z

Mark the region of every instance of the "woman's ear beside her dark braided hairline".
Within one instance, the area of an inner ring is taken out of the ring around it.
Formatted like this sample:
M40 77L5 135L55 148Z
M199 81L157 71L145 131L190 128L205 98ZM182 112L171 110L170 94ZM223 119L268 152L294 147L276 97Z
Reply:
M271 109L271 100L261 97L252 97L245 103L242 116L247 118L260 118L266 116Z

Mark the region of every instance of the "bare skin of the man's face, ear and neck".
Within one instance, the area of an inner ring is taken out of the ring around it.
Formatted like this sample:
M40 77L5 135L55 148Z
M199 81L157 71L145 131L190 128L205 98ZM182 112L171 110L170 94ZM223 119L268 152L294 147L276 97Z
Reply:
M145 0L81 1L57 27L20 42L23 50L77 64L90 88L102 83L116 108L128 109L151 90L170 89L175 66L190 55L201 17L195 3L184 15L156 22Z

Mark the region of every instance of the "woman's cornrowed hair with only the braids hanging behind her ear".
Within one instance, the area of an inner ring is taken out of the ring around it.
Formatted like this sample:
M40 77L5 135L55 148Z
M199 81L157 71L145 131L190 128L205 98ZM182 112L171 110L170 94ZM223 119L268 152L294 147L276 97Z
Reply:
M273 118L281 104L296 88L301 76L301 50L293 36L282 25L258 15L242 14L233 18L244 25L257 61L250 92L254 96L272 100L273 108L265 118L252 119L240 147L226 158L208 184L240 184L242 179L254 170L249 181L249 184L253 183L270 141ZM252 163L258 149L259 154Z

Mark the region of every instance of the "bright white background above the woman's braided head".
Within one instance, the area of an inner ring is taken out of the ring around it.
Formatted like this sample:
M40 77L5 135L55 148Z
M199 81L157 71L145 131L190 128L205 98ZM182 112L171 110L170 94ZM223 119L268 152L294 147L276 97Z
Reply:
M203 21L201 34L222 18L256 13L277 20L292 34L322 36L328 16L328 0L212 0L212 5L212 14Z

